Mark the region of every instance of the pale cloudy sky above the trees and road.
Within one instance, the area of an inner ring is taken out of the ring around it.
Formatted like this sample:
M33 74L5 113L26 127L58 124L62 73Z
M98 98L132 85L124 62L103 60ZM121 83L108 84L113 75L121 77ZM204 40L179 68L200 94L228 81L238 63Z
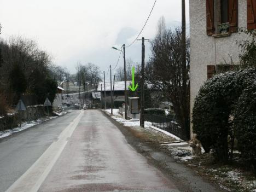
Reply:
M23 36L37 41L56 65L75 73L75 64L92 62L107 71L119 52L141 30L155 0L8 0L0 1L1 37ZM186 0L189 26L189 0ZM181 1L158 0L141 38L152 39L161 16L168 27L181 25ZM146 60L150 44L146 42ZM126 49L126 58L141 61L141 42ZM123 64L120 59L119 66Z

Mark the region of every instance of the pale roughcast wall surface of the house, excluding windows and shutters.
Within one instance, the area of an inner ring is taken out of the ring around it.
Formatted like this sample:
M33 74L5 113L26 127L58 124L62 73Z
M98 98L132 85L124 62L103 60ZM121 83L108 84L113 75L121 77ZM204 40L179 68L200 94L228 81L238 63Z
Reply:
M246 34L231 33L228 37L214 38L206 34L206 1L190 0L190 110L200 86L207 80L207 65L219 65L230 57L238 63L237 41ZM247 1L238 0L238 27L247 27ZM192 125L191 125L192 130ZM192 131L191 131L192 133Z

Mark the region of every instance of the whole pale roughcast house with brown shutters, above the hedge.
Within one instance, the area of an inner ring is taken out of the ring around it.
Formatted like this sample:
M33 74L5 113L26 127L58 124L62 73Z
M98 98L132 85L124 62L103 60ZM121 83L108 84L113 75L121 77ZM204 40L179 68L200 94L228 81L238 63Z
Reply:
M241 49L237 42L249 37L238 33L237 27L256 29L256 1L193 0L189 7L192 112L194 99L205 80L239 63Z

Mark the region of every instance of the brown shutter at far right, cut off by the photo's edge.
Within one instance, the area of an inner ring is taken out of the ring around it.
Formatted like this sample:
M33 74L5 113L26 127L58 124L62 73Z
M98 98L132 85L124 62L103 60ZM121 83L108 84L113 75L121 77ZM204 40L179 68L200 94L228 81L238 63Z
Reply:
M256 1L247 0L247 28L254 30L256 28Z

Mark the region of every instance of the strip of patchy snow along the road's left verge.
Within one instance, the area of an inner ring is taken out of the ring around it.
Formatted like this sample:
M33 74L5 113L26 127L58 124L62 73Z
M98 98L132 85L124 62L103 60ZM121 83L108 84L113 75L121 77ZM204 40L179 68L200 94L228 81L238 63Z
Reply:
M21 123L21 127L15 127L14 129L8 129L8 130L0 131L0 138L7 137L7 136L9 136L9 135L11 135L15 132L20 132L22 130L28 129L28 128L34 126L34 125L43 123L44 121L47 121L47 120L50 120L50 119L53 119L53 118L56 118L56 117L57 116L49 117L49 118L40 118L40 119L37 119L37 120Z

